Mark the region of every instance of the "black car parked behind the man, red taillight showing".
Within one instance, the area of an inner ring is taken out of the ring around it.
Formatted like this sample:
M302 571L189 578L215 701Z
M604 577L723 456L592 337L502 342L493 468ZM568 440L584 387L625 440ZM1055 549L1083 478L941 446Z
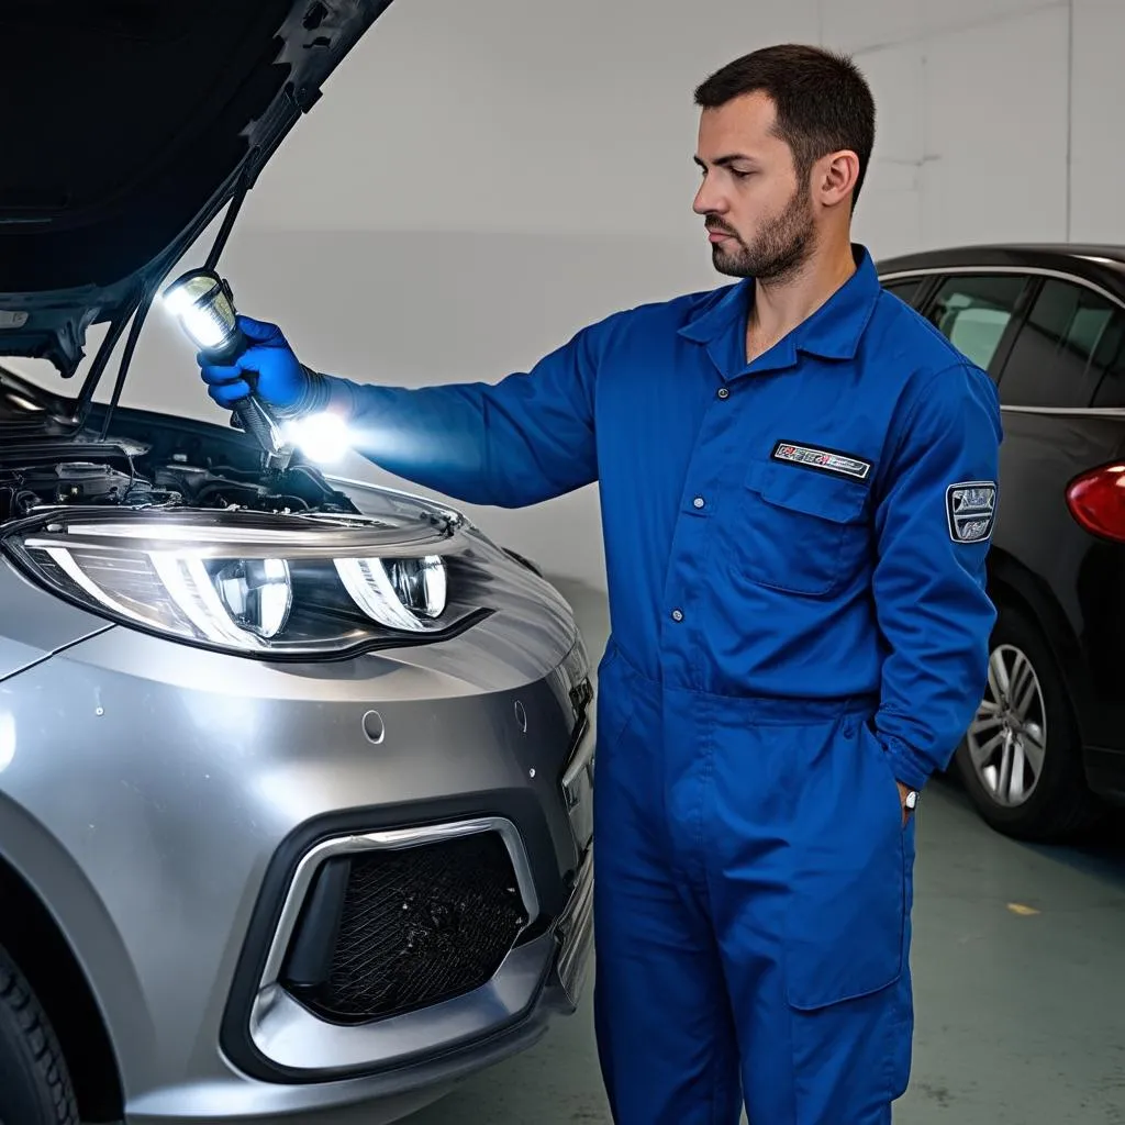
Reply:
M999 386L989 683L956 771L983 818L1072 836L1125 803L1125 246L879 263Z

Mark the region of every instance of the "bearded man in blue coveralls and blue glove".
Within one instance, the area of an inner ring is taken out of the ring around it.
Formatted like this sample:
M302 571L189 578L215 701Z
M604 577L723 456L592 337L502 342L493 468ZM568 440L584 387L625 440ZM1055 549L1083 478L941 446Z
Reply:
M477 504L597 482L596 1028L614 1120L876 1125L906 1089L911 810L983 693L1001 440L989 378L881 290L850 215L874 138L849 60L704 82L718 290L619 312L496 385L359 385L273 325L223 406L344 414Z

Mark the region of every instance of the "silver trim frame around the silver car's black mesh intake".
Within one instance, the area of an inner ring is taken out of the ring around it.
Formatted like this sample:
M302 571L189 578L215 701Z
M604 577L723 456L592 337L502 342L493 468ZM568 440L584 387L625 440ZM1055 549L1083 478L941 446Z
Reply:
M372 849L402 849L498 832L515 870L528 925L540 914L531 863L523 838L503 817L480 817L444 825L341 836L309 849L294 873L266 958L250 1014L251 1041L271 1062L289 1070L341 1070L399 1063L405 1056L442 1050L487 1034L518 1017L532 1001L556 947L546 934L508 951L493 979L465 996L368 1024L342 1026L313 1015L278 983L297 919L320 866L333 856Z

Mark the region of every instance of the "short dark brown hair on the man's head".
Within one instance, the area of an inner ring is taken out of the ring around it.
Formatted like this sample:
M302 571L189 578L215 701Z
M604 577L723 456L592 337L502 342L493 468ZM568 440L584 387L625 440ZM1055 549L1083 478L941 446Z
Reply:
M695 105L718 109L758 92L776 107L776 135L792 150L802 180L830 152L850 150L860 158L854 209L875 145L875 100L855 63L796 43L763 47L716 71L696 88Z

